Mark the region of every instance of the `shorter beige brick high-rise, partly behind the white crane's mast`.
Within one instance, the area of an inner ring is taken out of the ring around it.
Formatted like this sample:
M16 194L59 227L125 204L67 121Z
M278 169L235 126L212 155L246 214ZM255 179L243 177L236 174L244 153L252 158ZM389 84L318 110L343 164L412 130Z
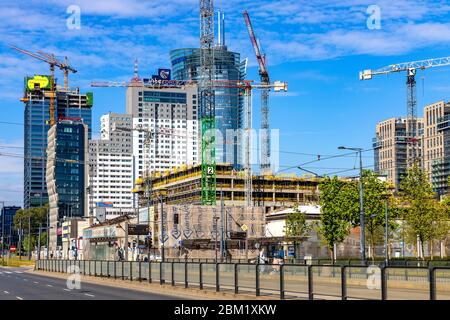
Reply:
M374 170L385 175L387 181L398 189L406 169L414 161L421 159L421 139L416 138L418 146L418 159L408 156L411 139L407 137L407 120L404 118L391 118L381 121L376 126L376 136L373 139ZM423 119L417 119L418 132L422 131Z

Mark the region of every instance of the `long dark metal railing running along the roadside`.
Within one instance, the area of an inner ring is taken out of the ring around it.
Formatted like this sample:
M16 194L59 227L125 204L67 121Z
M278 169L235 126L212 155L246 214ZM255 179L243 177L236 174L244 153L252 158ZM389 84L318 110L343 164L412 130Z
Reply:
M280 299L450 300L450 267L38 260L35 269Z

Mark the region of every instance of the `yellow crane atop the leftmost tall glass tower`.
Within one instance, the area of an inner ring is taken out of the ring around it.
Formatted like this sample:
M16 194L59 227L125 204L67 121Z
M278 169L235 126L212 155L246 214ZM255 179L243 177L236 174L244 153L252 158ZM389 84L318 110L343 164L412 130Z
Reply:
M73 67L71 67L68 63L67 57L64 57L64 62L56 59L55 55L53 53L45 53L42 51L38 51L36 53L24 50L21 48L18 48L16 46L10 46L12 49L26 54L30 57L33 57L35 59L44 61L50 65L50 78L51 78L51 89L50 92L46 95L50 98L50 126L53 126L55 124L55 98L56 98L56 83L55 83L55 67L58 67L63 71L64 74L64 89L66 91L69 90L69 71L72 73L76 73L77 70Z

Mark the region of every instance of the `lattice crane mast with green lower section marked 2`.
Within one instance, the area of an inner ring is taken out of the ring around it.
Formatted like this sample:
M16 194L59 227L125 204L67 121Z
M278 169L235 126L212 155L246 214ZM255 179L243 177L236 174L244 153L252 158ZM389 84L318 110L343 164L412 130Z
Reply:
M216 112L214 78L214 0L200 0L200 111L202 117L202 205L216 204Z

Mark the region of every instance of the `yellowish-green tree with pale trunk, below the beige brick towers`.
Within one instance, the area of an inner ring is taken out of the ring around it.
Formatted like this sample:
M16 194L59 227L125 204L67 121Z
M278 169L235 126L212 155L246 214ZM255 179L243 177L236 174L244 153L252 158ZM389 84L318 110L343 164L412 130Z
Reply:
M423 244L441 239L448 231L446 208L435 198L426 172L414 164L400 184L404 202L406 240L417 246L420 258L424 257Z

